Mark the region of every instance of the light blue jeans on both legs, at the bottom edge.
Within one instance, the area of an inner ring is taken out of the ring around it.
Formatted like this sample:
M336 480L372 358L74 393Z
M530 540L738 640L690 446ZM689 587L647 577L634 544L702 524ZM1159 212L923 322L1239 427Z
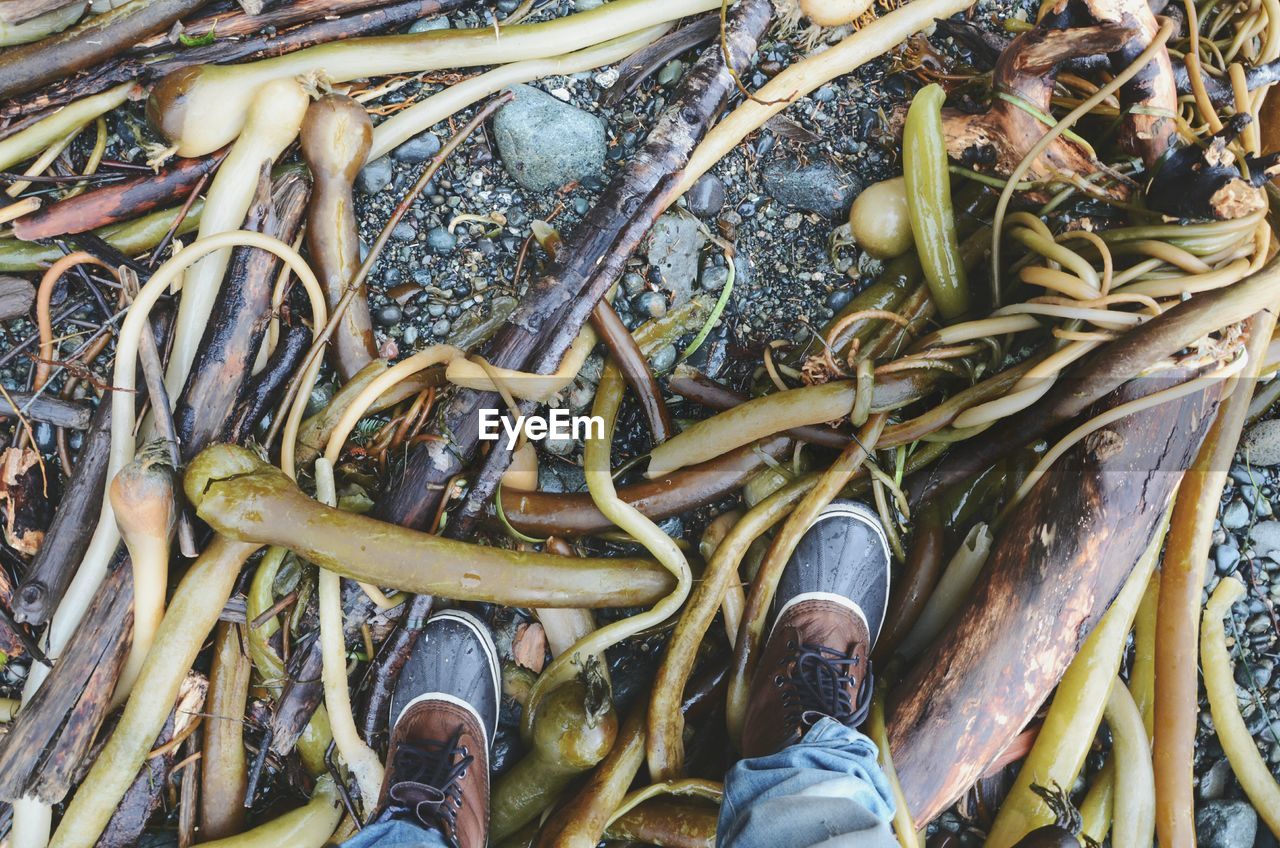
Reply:
M724 779L721 848L897 848L893 795L870 739L820 719L804 739L742 760ZM445 848L444 839L404 821L370 825L343 848Z

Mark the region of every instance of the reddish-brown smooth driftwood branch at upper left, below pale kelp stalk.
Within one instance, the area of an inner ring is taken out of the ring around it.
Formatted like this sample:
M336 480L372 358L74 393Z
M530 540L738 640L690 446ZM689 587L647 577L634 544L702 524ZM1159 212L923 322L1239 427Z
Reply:
M52 238L177 206L195 191L205 174L218 168L224 155L225 149L201 159L179 159L159 174L146 174L60 200L15 220L13 232L23 241Z

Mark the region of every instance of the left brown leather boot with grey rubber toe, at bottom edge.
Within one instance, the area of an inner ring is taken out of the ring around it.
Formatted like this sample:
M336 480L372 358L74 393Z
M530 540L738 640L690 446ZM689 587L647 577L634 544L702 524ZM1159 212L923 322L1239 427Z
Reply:
M379 821L412 821L456 848L485 848L499 685L488 628L456 610L428 620L392 697Z

